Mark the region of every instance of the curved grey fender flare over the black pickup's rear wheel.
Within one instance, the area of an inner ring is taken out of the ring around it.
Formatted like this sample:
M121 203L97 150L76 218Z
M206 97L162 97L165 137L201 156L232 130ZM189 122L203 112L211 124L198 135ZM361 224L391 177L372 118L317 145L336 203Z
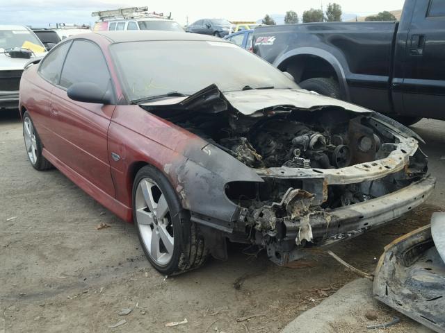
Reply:
M337 78L339 78L340 90L343 96L345 96L345 101L350 101L350 94L348 83L346 82L345 70L343 69L343 66L341 65L339 60L332 53L323 49L318 49L316 47L299 47L298 49L293 49L291 51L283 53L281 56L278 56L272 65L275 67L279 67L282 62L294 56L316 56L329 63L337 74Z

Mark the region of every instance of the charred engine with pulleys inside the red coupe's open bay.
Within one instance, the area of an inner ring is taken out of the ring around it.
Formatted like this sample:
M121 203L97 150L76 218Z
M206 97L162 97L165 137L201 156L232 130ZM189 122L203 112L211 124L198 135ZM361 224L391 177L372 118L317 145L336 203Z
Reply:
M249 167L332 169L347 167L351 161L347 133L342 134L319 132L298 121L271 119L253 128L248 137L224 138L220 144Z

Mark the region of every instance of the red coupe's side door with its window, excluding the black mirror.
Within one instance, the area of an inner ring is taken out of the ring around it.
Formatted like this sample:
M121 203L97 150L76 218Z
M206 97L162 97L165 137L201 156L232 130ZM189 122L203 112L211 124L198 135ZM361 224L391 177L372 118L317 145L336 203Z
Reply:
M115 196L108 160L108 127L115 105L83 103L67 96L74 83L95 83L112 89L102 50L86 40L75 40L67 53L60 80L53 89L50 113L60 142L56 157L86 181Z

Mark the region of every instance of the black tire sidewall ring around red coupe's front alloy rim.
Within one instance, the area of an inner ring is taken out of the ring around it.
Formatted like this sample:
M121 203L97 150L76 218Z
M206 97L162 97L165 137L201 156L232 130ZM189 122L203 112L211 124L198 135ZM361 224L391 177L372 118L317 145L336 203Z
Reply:
M143 178L150 178L154 182L156 182L156 185L161 189L163 195L165 196L165 200L168 203L168 208L170 210L170 217L172 219L172 225L173 225L173 237L175 239L173 244L173 254L172 259L170 259L170 262L166 265L160 265L157 262L150 257L149 252L147 248L145 247L144 241L142 239L142 235L140 234L139 226L136 221L136 205L135 205L135 198L136 198L136 190L138 188L140 180L143 180ZM133 205L133 223L135 225L136 231L138 232L138 237L140 241L140 246L142 246L143 251L145 253L145 256L149 260L149 262L161 273L163 274L171 274L176 271L176 268L179 263L179 258L181 257L181 253L183 252L183 228L184 228L184 219L186 218L186 214L184 210L181 207L181 203L179 203L179 199L177 198L177 195L172 188L172 185L170 185L170 182L168 182L167 178L163 176L161 171L158 169L152 167L152 166L145 166L138 173L136 174L136 178L133 182L133 192L132 192L132 205Z

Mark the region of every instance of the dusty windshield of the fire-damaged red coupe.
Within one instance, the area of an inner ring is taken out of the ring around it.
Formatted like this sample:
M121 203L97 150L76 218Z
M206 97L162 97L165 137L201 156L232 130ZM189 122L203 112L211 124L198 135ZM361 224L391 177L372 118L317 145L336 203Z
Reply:
M130 101L170 92L191 95L212 83L223 92L298 88L280 70L229 42L126 42L113 44L111 52Z

